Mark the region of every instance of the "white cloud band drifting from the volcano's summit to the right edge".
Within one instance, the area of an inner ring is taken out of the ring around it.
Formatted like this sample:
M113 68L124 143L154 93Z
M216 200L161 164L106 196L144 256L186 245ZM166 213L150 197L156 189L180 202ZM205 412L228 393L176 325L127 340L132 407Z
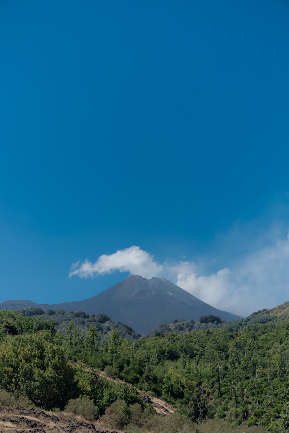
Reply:
M256 252L241 255L231 265L212 275L199 275L193 262L160 264L154 256L131 246L95 262L85 260L71 266L69 276L87 278L113 271L130 272L145 278L163 276L179 287L221 310L250 314L289 300L289 240L278 239Z

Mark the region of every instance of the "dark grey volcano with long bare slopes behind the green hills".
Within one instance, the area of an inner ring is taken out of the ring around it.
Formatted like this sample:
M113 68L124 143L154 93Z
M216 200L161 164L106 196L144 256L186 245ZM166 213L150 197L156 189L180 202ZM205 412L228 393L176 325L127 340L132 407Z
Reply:
M9 304L11 302L11 304ZM29 304L30 303L30 304ZM218 310L201 301L166 278L146 279L131 275L105 291L83 301L61 304L35 304L31 301L4 301L0 309L20 310L39 307L43 310L85 311L88 314L104 313L114 321L127 323L136 332L146 334L161 322L174 319L199 320L200 316L213 314L222 320L238 320L240 317Z

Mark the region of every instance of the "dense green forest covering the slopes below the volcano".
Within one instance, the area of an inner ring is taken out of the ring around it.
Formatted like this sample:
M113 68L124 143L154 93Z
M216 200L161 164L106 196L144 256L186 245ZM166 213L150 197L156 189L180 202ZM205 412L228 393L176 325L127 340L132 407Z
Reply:
M43 320L1 310L0 387L48 409L77 407L87 398L98 416L114 414L111 423L119 429L129 427L137 411L144 424L154 416L142 390L171 404L188 423L217 419L287 431L289 321L283 310L197 323L207 325L201 332L185 320L174 323L189 324L178 332L167 332L163 323L154 335L136 339L122 338L116 328L101 334L93 323L83 330L73 320L61 333L53 314ZM100 377L100 370L121 381Z

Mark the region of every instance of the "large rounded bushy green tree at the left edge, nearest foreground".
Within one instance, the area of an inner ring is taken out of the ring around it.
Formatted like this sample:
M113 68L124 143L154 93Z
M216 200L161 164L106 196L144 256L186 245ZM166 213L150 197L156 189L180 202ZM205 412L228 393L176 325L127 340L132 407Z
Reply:
M0 386L37 406L64 407L77 397L74 369L63 350L39 334L9 338L0 351Z

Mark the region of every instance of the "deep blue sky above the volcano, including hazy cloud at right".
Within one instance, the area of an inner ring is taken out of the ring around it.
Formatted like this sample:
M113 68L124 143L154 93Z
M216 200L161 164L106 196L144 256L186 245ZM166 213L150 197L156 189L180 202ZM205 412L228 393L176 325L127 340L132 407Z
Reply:
M287 301L288 21L279 0L2 1L0 301L91 297L131 268L71 264L131 246L214 306Z

